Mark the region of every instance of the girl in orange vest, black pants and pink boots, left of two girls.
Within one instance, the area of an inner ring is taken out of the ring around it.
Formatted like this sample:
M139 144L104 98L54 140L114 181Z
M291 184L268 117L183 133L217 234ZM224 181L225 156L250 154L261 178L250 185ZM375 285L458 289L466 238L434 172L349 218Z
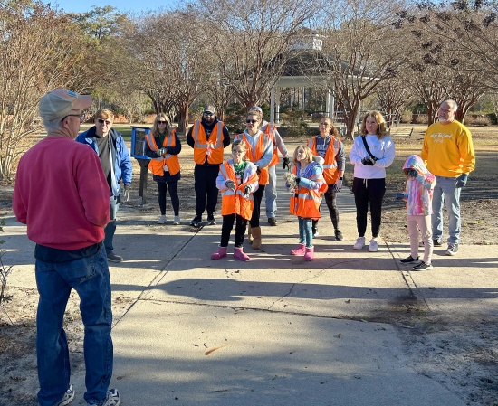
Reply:
M216 178L216 187L221 192L221 241L218 250L211 255L211 260L226 257L226 248L230 240L230 233L235 222L235 249L234 258L249 260L244 253L243 243L247 221L253 215L253 193L258 189L257 167L247 160L245 154L247 146L244 141L237 140L232 144L232 159L220 165L220 172Z

